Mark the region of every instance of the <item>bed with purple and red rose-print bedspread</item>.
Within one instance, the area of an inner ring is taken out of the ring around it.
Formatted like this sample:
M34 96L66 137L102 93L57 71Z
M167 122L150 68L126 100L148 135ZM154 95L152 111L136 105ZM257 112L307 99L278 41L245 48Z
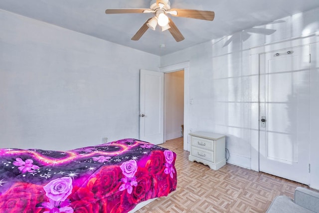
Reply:
M0 149L0 213L127 213L175 191L176 154L136 139Z

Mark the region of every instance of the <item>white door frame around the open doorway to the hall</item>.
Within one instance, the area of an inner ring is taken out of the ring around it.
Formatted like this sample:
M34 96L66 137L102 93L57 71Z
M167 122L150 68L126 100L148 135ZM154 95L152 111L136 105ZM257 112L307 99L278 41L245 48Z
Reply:
M189 103L189 61L163 66L159 68L160 72L170 73L175 71L184 70L184 132L183 132L183 149L190 150L190 137L188 135L188 103ZM164 94L165 95L165 94ZM165 97L164 97L165 100ZM164 125L165 125L165 112L164 112ZM165 129L165 126L164 126ZM165 133L164 133L165 142Z

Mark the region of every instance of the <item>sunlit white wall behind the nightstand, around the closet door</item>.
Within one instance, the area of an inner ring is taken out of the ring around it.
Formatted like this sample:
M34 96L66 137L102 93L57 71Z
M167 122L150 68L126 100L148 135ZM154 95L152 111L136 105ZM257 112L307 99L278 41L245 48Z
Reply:
M251 68L251 48L265 46L267 50L266 46L273 44L281 49L287 44L312 43L310 185L319 189L319 43L316 43L319 42L319 8L255 28L276 31L265 35L246 30L161 57L162 67L189 61L188 89L193 104L188 106L189 128L184 129L184 133L196 130L224 133L230 152L228 163L258 170L258 154L256 158L254 150L258 150L258 114L255 117L258 112L258 70ZM249 38L244 39L247 33ZM228 43L228 39L232 42ZM285 44L282 45L283 41Z

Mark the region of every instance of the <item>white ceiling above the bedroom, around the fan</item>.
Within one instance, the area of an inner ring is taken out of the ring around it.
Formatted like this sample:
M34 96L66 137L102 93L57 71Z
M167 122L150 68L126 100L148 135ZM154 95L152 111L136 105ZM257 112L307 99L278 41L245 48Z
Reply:
M172 8L212 10L213 21L171 17L184 40L168 30L148 29L131 40L153 14L105 14L107 8L149 8L151 0L0 0L0 9L129 46L165 55L243 29L319 7L319 0L170 0ZM164 44L165 47L160 47Z

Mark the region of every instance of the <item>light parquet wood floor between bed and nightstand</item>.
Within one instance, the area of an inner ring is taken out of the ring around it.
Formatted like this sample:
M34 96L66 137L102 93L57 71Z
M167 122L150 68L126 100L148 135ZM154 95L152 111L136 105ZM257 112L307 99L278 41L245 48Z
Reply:
M308 186L226 164L217 171L188 161L183 139L160 145L177 154L177 189L137 213L264 213L278 195L294 198L296 187Z

